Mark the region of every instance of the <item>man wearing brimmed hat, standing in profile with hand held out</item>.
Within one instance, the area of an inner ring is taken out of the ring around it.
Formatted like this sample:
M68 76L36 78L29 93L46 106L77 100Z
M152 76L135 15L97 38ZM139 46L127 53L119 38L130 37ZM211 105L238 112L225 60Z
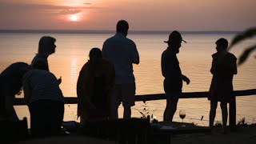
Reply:
M166 92L166 110L163 115L164 122L172 122L177 110L178 98L182 96L182 80L188 85L190 79L182 74L176 54L182 46L182 35L174 30L169 35L167 49L162 53L161 67L164 79L164 90Z

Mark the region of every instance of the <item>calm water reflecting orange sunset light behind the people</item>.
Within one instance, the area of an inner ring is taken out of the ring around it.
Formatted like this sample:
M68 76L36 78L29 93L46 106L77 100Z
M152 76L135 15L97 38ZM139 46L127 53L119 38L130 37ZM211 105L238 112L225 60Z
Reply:
M0 33L0 72L13 62L30 63L38 50L38 40L43 35L50 35L57 39L56 53L50 55L50 71L57 78L62 76L60 85L65 97L76 97L76 83L79 71L88 60L91 48L102 48L102 43L113 34L24 34L24 33ZM218 38L230 39L234 34L182 34L187 43L182 43L178 59L182 73L190 78L190 85L184 83L184 92L209 90L211 54L215 53L214 42ZM134 40L140 54L140 64L134 66L137 94L162 94L163 77L161 73L161 54L166 50L168 34L129 34L128 38ZM231 52L237 57L243 48L255 42L255 39L247 40L235 46ZM234 76L234 90L246 90L256 88L256 61L250 57L242 66L238 67L238 74ZM17 96L22 97L22 96ZM158 120L162 120L165 100L147 102L150 114ZM65 121L76 119L76 105L66 105ZM19 118L30 117L27 106L15 106ZM140 117L138 110L143 109L142 102L136 102L132 108L132 116ZM210 102L206 98L180 99L178 110L186 110L184 122L194 122L198 125L208 125ZM174 115L174 121L181 122L178 110ZM204 116L203 121L200 119ZM119 107L119 117L122 118L122 106ZM246 122L256 122L256 97L237 98L237 120L245 117ZM221 110L218 106L216 121L221 121Z

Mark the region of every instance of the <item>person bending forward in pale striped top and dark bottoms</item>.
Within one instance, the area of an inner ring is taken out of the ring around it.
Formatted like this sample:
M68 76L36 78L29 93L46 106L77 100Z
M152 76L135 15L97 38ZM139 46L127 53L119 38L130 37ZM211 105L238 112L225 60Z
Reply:
M54 74L44 62L34 62L33 70L22 78L24 98L30 110L30 130L35 137L58 134L64 114L64 98Z

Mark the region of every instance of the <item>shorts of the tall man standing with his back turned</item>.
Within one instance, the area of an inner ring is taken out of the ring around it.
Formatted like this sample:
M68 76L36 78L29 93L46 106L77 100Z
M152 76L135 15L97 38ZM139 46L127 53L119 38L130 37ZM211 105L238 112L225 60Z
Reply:
M122 102L122 106L130 107L135 105L135 82L116 84L114 87L114 93L112 102L115 106L119 106Z

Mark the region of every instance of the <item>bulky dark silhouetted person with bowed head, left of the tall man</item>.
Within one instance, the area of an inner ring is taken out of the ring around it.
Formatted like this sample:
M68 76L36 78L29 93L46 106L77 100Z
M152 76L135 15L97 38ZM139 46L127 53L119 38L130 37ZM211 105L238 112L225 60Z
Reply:
M98 48L90 50L89 57L82 66L77 84L80 122L108 118L114 89L114 66L102 59L102 51Z

